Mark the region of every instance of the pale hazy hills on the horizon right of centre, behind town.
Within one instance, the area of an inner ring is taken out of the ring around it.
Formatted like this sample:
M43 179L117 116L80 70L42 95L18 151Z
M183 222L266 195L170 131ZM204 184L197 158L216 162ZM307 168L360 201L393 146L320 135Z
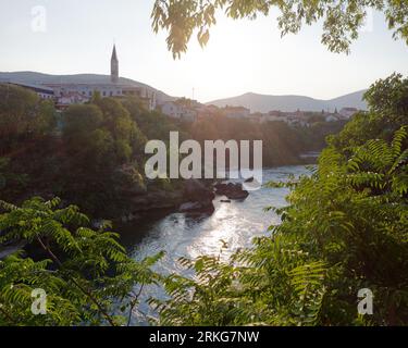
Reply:
M304 96L245 94L239 97L214 100L207 104L214 104L221 108L225 105L245 107L250 109L251 112L268 112L272 110L296 111L298 109L302 111L322 111L327 109L334 111L335 108L339 110L346 107L366 110L367 104L362 100L364 91L366 90L356 91L331 100L320 100Z

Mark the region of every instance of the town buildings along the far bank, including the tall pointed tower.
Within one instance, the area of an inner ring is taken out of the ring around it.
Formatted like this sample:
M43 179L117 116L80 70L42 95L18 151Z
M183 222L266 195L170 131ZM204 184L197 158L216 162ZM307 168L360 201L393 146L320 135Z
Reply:
M137 97L149 111L160 111L171 119L185 122L194 122L207 116L224 116L234 120L248 120L254 123L284 122L289 126L308 127L314 122L347 121L359 110L356 108L337 109L334 112L322 110L321 112L301 111L283 112L272 110L268 113L251 113L240 105L225 105L223 108L213 104L203 104L197 100L187 98L160 99L154 91L146 87L135 86L129 83L121 83L119 78L119 59L116 47L113 46L111 55L111 74L108 83L22 83L16 80L0 80L3 84L17 85L35 91L41 99L51 100L58 111L64 111L72 104L84 104L98 95L100 98L128 96Z

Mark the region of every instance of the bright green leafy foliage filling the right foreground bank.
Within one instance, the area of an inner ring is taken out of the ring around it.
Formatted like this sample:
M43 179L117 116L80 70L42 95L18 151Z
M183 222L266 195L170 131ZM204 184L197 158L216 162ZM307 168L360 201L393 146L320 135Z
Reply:
M151 302L166 325L408 324L408 79L371 87L369 113L330 140L310 177L289 184L282 224L228 262L182 260ZM381 98L379 98L381 96ZM359 289L373 315L357 311Z

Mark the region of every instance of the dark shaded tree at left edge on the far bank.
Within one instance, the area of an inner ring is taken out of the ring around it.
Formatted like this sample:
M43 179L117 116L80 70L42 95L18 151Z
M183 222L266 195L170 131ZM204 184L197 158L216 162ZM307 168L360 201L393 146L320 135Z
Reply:
M57 112L51 101L44 101L29 89L0 84L0 191L1 199L14 201L40 189L39 172L52 176Z

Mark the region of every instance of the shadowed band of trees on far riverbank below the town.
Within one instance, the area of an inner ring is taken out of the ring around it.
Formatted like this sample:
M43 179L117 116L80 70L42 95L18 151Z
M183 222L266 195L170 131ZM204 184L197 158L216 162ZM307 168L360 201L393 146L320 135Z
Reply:
M23 202L33 196L61 197L94 217L114 219L132 198L151 189L175 189L177 183L146 181L145 145L180 139L262 139L264 165L299 163L299 153L320 149L334 124L310 129L284 123L256 125L218 115L195 123L150 112L136 98L95 96L62 114L21 87L0 85L1 199ZM321 132L314 132L317 128ZM313 132L311 130L313 129Z

